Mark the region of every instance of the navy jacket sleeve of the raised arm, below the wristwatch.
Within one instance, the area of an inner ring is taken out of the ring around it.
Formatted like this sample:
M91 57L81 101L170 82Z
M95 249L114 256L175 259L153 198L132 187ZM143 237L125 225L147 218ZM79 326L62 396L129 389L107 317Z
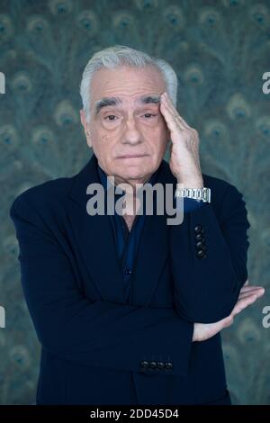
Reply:
M186 321L212 323L229 316L247 281L246 203L237 188L225 190L217 219L211 203L184 213L170 227L175 308Z

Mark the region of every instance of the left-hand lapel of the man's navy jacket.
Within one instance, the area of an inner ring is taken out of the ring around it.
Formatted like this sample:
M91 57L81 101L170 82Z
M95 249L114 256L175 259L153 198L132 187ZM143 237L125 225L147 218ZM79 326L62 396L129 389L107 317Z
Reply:
M100 183L96 163L97 159L93 155L75 176L69 193L68 215L77 245L85 259L85 266L101 299L123 303L121 269L114 247L110 218L107 215L90 216L86 211L86 203L90 198L86 188L88 184Z

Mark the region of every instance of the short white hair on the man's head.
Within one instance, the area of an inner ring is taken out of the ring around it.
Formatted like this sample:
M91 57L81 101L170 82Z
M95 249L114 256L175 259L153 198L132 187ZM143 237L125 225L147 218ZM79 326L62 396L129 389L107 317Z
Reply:
M86 121L90 121L90 86L91 80L96 72L101 67L112 69L118 66L128 65L130 67L145 67L153 66L163 76L166 84L166 91L174 106L177 101L177 76L175 70L165 60L161 58L152 58L147 53L137 49L131 49L127 46L115 45L102 49L94 53L85 66L81 84L80 94L82 97L83 109L85 111Z

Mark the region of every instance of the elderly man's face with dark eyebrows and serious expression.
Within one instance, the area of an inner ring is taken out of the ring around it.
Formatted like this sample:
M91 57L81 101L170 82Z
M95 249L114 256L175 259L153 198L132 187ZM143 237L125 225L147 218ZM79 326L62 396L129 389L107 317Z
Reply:
M87 144L99 165L117 182L148 180L166 151L169 130L159 110L159 95L166 91L154 67L101 68L91 82L91 117L81 121ZM113 98L112 98L113 97ZM144 102L143 102L144 100Z

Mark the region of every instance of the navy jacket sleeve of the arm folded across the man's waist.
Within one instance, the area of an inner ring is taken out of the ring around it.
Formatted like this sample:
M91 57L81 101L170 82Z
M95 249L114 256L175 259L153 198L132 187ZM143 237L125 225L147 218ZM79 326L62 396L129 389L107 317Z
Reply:
M85 298L76 287L70 260L40 214L24 193L10 209L23 293L42 347L81 365L187 374L193 324L173 308Z

